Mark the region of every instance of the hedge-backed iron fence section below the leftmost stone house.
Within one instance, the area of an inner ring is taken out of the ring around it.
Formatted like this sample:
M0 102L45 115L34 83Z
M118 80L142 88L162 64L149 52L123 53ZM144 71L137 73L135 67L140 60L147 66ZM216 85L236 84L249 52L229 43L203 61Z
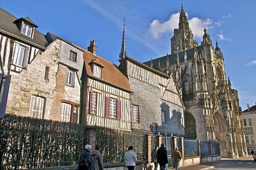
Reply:
M77 164L84 131L82 125L6 115L0 119L0 169Z

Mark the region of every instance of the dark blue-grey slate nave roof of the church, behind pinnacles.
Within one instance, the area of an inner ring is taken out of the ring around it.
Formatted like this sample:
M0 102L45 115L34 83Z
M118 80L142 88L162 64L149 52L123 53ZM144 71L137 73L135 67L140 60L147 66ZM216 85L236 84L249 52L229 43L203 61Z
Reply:
M199 54L202 53L201 52L201 46L196 46L196 50L198 51ZM185 52L187 53L188 60L190 60L194 57L194 48L190 48L188 50L185 50ZM179 55L179 62L183 63L185 52L180 51L178 53L173 53L173 54L170 54L170 55L165 55L163 57L158 57L156 59L152 59L152 63L154 65L154 68L158 68L158 62L160 62L160 64L166 64L167 57L170 60L170 64L171 65L174 64L176 62L177 54ZM143 64L146 64L147 66L151 66L151 60L149 60L148 62L144 62Z

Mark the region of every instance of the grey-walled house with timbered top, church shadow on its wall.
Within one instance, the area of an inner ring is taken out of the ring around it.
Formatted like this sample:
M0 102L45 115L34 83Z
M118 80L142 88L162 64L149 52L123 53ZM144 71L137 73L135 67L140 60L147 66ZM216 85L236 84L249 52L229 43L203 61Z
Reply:
M185 135L185 108L173 75L161 73L127 56L119 68L134 92L131 95L132 129Z

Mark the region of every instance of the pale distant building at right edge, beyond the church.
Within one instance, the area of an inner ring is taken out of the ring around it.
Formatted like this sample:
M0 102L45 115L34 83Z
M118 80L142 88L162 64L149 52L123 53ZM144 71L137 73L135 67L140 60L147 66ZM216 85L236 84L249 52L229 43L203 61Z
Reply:
M246 144L248 151L256 151L256 103L243 112L244 130L246 131Z

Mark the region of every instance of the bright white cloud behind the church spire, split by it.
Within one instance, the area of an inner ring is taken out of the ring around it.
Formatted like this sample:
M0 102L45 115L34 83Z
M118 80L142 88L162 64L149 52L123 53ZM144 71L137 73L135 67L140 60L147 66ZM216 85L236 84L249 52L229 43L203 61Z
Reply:
M170 34L173 32L174 28L179 28L179 15L179 12L174 13L171 15L168 21L164 22L155 19L150 24L149 33L155 39L161 38L164 34ZM195 39L201 39L203 37L204 28L213 28L212 19L199 19L198 17L194 17L188 20L188 22L190 23L190 28L192 29Z

